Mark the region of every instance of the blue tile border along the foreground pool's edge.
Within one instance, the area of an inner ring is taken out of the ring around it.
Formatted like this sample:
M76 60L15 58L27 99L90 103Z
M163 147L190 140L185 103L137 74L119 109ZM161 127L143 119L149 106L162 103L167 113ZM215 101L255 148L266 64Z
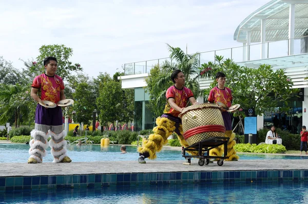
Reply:
M110 173L33 177L10 176L0 177L0 191L94 188L123 185L172 185L200 182L283 182L300 180L308 180L307 170Z

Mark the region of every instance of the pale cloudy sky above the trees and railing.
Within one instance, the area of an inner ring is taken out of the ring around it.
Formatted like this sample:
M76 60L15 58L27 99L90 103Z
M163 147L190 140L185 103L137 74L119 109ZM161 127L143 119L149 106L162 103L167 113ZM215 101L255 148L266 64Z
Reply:
M268 2L0 0L0 56L21 69L42 45L64 44L88 76L113 75L126 63L168 57L166 43L188 53L242 46L236 28Z

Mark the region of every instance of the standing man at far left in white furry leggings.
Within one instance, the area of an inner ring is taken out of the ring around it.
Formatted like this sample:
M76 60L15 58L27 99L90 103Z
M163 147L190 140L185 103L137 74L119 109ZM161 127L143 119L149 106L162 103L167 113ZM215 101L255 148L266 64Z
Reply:
M53 162L71 162L66 155L66 140L63 132L62 109L59 106L55 108L45 108L39 103L42 100L57 103L65 99L64 83L60 76L55 75L57 70L57 60L55 57L46 57L44 59L45 73L34 78L31 85L31 97L37 101L35 111L35 128L31 131L32 140L30 141L28 164L41 163L46 156L46 149L51 148ZM38 96L38 90L40 95Z

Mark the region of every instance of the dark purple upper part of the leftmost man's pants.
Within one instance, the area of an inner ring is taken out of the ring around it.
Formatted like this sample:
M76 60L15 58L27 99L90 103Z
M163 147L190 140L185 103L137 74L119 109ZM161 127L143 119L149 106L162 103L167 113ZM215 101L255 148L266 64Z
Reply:
M47 126L62 126L62 108L45 108L40 104L36 106L35 123Z

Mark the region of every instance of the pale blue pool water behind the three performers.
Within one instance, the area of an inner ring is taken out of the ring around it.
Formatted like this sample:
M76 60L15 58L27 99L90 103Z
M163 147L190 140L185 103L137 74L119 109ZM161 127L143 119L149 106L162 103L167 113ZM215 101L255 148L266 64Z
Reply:
M0 163L26 162L29 158L29 145L26 144L0 144ZM74 162L84 161L137 161L139 153L136 146L127 146L126 154L121 154L120 146L103 148L99 145L67 145L67 154ZM239 154L240 159L308 159L307 156L286 156L269 154ZM50 148L43 162L52 162ZM181 151L162 150L157 154L157 160L184 160Z

